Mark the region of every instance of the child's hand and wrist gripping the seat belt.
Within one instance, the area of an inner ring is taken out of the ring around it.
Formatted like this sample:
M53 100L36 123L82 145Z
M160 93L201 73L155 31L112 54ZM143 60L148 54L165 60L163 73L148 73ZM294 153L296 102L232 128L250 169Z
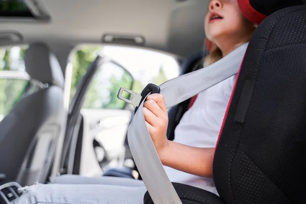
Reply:
M168 113L164 96L162 94L151 94L144 102L143 114L147 129L150 133L157 153L162 160L163 152L168 147L166 136L168 126Z

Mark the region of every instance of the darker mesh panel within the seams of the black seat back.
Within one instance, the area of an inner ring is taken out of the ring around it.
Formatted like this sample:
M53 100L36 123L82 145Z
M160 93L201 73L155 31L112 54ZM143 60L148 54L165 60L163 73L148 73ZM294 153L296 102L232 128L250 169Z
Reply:
M306 184L305 56L306 44L266 51L241 139L245 152L292 200L302 193L295 186Z

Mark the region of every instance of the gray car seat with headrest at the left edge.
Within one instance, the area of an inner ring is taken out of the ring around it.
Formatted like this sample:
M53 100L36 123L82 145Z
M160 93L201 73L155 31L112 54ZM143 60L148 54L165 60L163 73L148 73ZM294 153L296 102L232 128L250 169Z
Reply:
M56 56L36 42L25 52L25 69L43 85L24 96L0 122L0 173L22 186L45 182L65 128L64 77Z

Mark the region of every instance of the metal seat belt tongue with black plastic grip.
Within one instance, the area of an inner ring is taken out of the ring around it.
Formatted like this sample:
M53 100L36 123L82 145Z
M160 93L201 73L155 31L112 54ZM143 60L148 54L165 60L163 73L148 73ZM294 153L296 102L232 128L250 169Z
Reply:
M131 94L130 98L131 99L127 99L125 97L122 96L123 91ZM120 100L125 101L126 103L132 104L135 108L135 113L138 110L138 107L140 106L140 104L142 103L142 101L144 100L144 98L148 95L148 94L154 94L154 93L160 93L161 92L161 88L155 84L148 84L141 93L136 93L134 91L131 91L130 89L121 87L119 89L118 95L117 97Z

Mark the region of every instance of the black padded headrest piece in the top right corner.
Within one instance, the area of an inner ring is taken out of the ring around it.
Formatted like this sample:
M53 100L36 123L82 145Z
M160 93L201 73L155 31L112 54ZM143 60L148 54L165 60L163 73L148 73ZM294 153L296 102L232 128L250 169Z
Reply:
M305 5L306 0L246 0L262 14L270 15L275 11L291 6Z

